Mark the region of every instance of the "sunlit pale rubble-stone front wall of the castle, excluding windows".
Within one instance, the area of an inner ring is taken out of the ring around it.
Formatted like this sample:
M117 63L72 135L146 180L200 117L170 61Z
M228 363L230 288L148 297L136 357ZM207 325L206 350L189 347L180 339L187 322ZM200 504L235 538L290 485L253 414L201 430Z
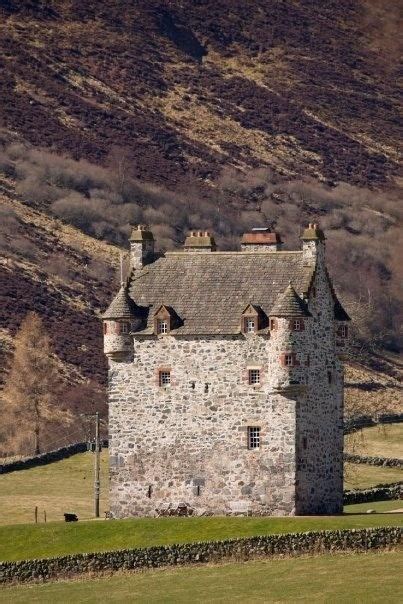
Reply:
M295 402L269 394L269 336L135 338L133 362L110 362L111 512L293 514ZM171 368L172 385L157 385ZM262 367L249 386L247 368ZM193 387L194 384L194 387ZM261 447L247 448L247 426Z

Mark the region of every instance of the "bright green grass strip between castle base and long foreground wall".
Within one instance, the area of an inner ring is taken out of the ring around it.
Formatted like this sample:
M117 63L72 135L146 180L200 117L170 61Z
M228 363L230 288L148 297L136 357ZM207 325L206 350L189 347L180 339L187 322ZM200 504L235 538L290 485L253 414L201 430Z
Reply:
M0 527L0 560L149 547L253 535L403 526L403 514L266 518L135 518Z

